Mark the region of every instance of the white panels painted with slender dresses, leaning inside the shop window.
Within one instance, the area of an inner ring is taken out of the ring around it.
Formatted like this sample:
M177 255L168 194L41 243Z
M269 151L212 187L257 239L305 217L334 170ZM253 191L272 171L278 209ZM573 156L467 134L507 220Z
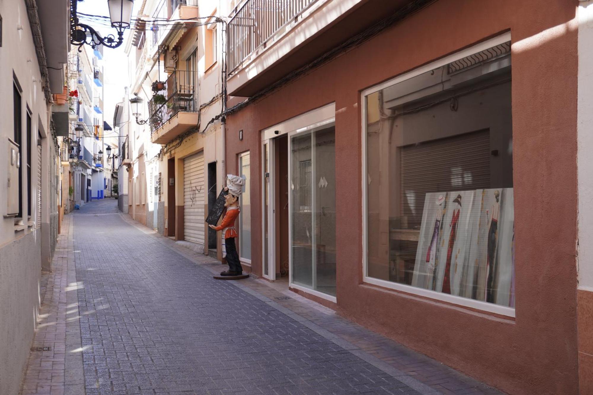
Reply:
M512 188L427 193L413 286L514 305Z

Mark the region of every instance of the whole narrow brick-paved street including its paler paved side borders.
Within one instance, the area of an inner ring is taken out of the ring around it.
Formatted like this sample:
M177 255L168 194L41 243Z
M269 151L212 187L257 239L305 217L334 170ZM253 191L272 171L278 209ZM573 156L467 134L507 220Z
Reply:
M498 393L296 294L212 279L116 200L63 225L23 394Z

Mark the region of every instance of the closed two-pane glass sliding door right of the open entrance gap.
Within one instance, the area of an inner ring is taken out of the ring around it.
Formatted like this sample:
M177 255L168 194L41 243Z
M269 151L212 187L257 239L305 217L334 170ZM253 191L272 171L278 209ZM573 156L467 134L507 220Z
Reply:
M335 130L293 135L290 145L292 283L336 295Z

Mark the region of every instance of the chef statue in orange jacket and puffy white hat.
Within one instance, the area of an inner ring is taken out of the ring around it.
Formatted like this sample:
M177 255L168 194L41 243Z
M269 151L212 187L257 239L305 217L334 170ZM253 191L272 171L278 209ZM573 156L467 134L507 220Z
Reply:
M214 225L208 225L212 229L224 231L225 246L227 247L227 263L228 270L221 273L221 276L240 276L243 274L243 268L241 262L239 262L239 255L237 254L237 246L235 245L235 238L237 238L237 230L235 229L235 219L239 216L241 208L239 207L239 196L243 192L243 184L245 180L241 177L233 176L232 174L227 175L227 186L225 190L228 190L228 194L225 200L225 207L227 208L227 214L222 218L220 225L215 227Z

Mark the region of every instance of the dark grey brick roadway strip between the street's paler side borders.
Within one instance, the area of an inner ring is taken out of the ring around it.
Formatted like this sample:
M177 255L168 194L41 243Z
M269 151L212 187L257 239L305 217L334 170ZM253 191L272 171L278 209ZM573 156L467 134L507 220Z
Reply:
M170 393L299 393L292 383L309 378L314 387L315 377L331 378L317 391L324 394L402 386L391 376L380 380L384 373L362 359L345 359L349 353L316 333L325 329L314 332L269 299L212 279L208 270L109 214L106 205L97 211L93 205L72 215L87 388L101 395L122 385L139 394L165 386ZM108 358L105 351L113 350ZM328 362L315 377L314 359ZM345 361L365 372L365 386L356 375L340 374Z

